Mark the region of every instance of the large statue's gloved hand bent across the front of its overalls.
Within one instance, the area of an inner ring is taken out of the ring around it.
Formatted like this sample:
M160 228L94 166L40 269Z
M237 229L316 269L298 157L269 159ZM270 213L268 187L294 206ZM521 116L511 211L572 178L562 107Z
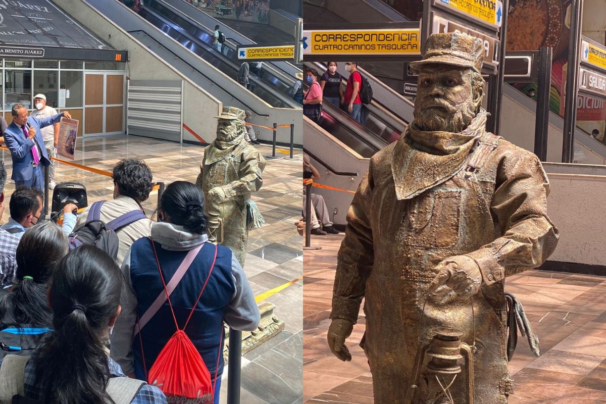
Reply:
M436 267L438 275L428 288L428 294L447 304L454 300L468 299L482 286L482 273L478 264L467 256L454 256L443 260Z

